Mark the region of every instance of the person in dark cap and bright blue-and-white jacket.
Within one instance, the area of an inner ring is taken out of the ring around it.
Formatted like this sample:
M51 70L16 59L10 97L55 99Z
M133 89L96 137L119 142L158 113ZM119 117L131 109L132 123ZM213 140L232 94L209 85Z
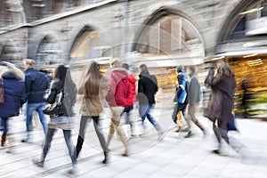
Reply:
M177 66L176 73L177 73L177 85L175 87L174 111L172 114L172 119L174 123L177 124L178 126L176 132L180 132L182 131L182 117L185 116L185 109L188 103L188 77L184 72L183 66L180 65ZM185 129L183 131L188 132L189 130Z

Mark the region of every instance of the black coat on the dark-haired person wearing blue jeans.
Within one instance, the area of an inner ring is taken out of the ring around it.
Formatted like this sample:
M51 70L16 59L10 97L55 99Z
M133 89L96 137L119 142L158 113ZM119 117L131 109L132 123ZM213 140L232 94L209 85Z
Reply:
M140 74L138 81L138 101L140 105L155 104L155 94L158 92L157 77Z

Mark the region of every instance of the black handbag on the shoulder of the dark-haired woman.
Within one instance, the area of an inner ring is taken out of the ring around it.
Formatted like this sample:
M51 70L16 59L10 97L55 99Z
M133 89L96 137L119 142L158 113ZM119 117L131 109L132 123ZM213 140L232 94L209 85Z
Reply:
M50 117L59 117L64 115L67 109L64 105L62 96L63 96L62 91L57 93L54 103L50 104L43 110L44 114L49 115Z

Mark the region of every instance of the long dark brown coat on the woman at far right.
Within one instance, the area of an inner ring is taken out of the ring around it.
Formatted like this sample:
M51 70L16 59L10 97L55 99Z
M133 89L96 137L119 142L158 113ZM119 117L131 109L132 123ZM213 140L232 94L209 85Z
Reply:
M236 81L234 78L217 75L209 75L206 84L211 86L211 98L209 108L206 110L205 117L212 121L232 122L231 111L234 107L234 91Z

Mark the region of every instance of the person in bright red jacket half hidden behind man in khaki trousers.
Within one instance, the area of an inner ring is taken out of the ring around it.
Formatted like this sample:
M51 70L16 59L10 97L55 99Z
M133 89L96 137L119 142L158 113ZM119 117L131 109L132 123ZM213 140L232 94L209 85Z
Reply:
M129 65L127 63L123 63L122 67L129 71ZM131 136L134 136L134 122L133 118L130 117L132 110L134 109L134 101L136 97L136 79L133 74L129 74L128 80L130 83L130 91L126 99L125 109L123 112L123 117L125 117L125 124L129 124L131 127Z

